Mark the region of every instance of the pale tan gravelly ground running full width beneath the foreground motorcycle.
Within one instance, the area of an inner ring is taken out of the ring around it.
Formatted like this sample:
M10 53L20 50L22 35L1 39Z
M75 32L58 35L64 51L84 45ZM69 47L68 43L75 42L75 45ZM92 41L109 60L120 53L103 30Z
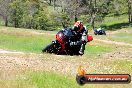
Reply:
M132 60L132 48L128 50L118 48L114 52L98 55L96 58L83 56L62 56L54 54L35 54L0 49L0 80L13 80L27 71L51 71L69 76L76 76L80 65L89 74L130 74L131 70L127 67L119 67L118 61ZM115 63L116 61L116 63ZM132 66L132 65L131 65ZM130 85L118 85L113 88L130 88ZM97 85L100 88L105 86ZM96 87L97 87L96 86ZM112 85L107 85L111 88ZM95 88L96 88L95 87Z

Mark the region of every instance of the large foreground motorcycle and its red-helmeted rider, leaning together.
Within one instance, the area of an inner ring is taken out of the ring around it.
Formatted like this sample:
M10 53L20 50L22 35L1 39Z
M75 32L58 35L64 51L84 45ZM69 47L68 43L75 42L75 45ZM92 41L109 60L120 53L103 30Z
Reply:
M86 27L81 21L77 21L73 28L64 28L56 34L56 40L45 47L42 52L68 55L83 55L85 45L91 41L87 37Z

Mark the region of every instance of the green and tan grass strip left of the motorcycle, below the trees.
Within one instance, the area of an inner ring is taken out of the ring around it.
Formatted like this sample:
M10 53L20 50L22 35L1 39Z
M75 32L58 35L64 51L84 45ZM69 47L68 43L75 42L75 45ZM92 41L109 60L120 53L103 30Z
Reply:
M35 35L30 33L30 31L0 30L0 48L39 53L53 38L52 35Z

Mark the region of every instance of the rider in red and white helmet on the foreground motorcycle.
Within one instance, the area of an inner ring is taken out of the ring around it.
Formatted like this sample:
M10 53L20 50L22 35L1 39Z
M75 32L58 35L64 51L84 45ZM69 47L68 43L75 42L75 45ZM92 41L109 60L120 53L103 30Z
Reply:
M77 21L74 24L73 29L71 29L74 38L70 41L70 46L81 45L79 54L83 55L85 50L85 45L87 42L87 30L81 21Z

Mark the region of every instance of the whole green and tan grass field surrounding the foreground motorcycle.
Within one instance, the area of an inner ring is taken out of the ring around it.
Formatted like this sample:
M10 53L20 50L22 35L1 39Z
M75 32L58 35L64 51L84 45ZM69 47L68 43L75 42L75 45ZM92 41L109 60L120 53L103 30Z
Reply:
M131 28L108 32L107 36L90 34L99 40L132 44ZM86 45L83 56L42 54L41 49L55 39L55 34L56 32L0 27L0 49L23 52L0 53L0 88L131 88L131 83L79 86L75 80L79 65L90 74L132 75L131 46L93 40Z

